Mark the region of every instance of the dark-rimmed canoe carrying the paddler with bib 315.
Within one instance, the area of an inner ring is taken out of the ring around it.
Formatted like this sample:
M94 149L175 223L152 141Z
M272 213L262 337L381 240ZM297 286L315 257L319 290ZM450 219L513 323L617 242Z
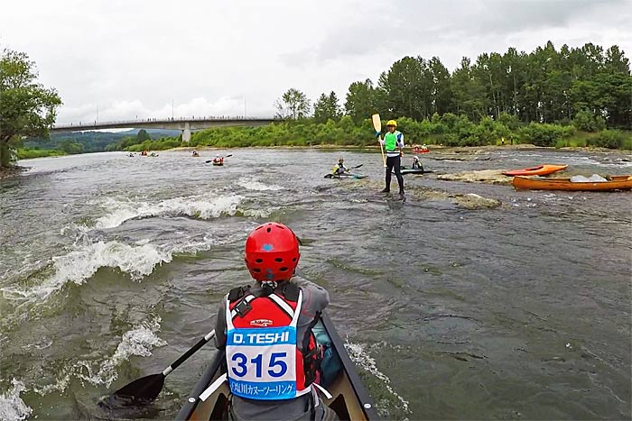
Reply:
M321 324L329 336L330 349L339 357L341 367L327 390L331 398L324 398L325 404L333 409L341 420L374 420L379 419L373 401L356 371L356 366L349 359L344 343L340 339L330 318L322 314ZM211 360L208 369L202 374L186 403L181 407L176 420L221 420L226 418L226 405L230 396L228 383L223 381L209 398L201 400L200 395L225 373L225 352L218 351ZM338 362L338 360L337 360Z

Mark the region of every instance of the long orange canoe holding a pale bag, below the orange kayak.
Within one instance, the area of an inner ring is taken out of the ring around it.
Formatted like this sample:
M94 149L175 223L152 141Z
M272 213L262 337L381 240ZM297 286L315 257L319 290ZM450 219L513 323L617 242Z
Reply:
M609 176L606 181L572 181L572 178L514 177L516 190L613 191L632 189L632 176Z

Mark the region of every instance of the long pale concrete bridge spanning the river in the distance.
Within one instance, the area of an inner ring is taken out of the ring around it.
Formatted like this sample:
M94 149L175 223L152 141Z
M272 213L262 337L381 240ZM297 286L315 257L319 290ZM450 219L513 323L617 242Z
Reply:
M79 124L57 124L51 128L51 133L60 132L81 132L88 130L100 129L166 129L180 130L182 133L182 141L191 141L191 131L208 129L209 127L228 127L228 126L259 126L280 122L281 120L274 117L227 117L227 116L200 116L200 117L181 117L181 118L145 118L141 120L128 120L119 122L79 122Z

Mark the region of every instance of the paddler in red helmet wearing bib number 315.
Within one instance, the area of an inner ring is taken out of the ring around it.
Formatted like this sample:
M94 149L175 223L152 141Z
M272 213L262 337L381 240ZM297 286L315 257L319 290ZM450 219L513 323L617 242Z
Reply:
M226 349L229 419L336 419L313 386L322 350L311 328L330 296L294 274L300 258L299 241L283 224L259 225L246 238L244 261L256 285L228 292L215 327L215 344Z

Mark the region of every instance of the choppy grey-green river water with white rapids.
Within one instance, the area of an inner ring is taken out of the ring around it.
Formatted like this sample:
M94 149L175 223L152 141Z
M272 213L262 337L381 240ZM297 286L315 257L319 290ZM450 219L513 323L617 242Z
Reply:
M630 192L407 175L402 203L377 193L376 153L230 152L223 168L205 163L210 151L24 160L29 171L0 180L0 419L98 418L108 390L163 371L249 282L246 235L270 220L302 239L299 272L329 289L384 418L631 418ZM323 178L340 154L369 177ZM632 172L621 152L453 156L423 163ZM455 199L471 193L500 206ZM212 352L173 371L138 416L175 416Z

